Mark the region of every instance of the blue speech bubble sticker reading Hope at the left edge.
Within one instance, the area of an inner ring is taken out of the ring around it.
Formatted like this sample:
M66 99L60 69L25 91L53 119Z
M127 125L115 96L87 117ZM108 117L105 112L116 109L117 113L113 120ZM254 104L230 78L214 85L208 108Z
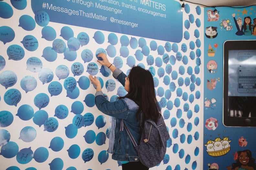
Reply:
M4 2L0 2L0 3L4 3ZM1 9L1 4L0 4L0 9ZM2 11L2 10L0 10L0 11ZM13 41L13 39L15 37L15 32L13 31L13 29L11 27L1 26L0 32L1 32L0 41L2 41L4 44L6 44L7 42Z

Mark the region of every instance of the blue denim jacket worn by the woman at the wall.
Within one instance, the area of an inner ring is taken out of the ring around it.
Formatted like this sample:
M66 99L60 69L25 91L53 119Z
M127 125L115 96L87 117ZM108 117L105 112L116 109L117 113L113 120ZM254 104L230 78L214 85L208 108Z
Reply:
M124 86L125 77L127 76L121 70L116 69L113 72L113 77ZM142 121L142 114L138 121L136 118L139 106L128 98L109 102L103 96L102 91L96 92L95 104L102 113L112 117L108 149L108 152L112 154L112 159L130 162L139 161L138 153L126 130L122 126L123 119L124 123L133 134L137 144L139 144L144 123Z

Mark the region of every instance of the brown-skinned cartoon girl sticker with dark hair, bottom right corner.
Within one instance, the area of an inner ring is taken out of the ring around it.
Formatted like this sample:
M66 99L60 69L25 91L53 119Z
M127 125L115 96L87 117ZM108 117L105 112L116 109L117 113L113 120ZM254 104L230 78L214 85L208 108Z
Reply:
M233 154L234 160L236 160L236 163L232 164L231 166L228 166L228 170L255 170L256 164L254 163L255 159L251 157L251 151L250 150L243 150L238 151Z

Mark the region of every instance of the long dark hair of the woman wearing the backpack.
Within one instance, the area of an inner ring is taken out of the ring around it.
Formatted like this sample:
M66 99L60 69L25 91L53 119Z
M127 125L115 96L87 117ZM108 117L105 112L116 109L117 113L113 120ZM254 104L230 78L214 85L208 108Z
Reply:
M150 71L134 66L129 73L129 92L119 99L132 99L138 106L137 118L143 113L144 119L157 122L161 109L155 97L154 79Z

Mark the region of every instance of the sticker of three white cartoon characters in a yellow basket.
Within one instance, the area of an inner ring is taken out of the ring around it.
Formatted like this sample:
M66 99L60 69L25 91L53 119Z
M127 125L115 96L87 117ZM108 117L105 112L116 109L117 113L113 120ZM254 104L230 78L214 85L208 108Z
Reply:
M230 151L230 142L229 137L217 137L215 140L208 140L204 146L210 156L222 156Z

